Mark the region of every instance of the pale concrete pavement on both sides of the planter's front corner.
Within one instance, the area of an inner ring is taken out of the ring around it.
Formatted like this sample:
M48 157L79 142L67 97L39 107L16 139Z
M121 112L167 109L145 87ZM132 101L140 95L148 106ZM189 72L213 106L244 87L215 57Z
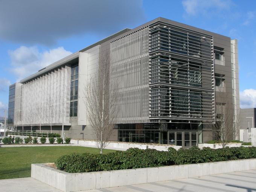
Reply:
M33 178L0 180L1 192L60 192ZM84 192L256 192L256 169Z

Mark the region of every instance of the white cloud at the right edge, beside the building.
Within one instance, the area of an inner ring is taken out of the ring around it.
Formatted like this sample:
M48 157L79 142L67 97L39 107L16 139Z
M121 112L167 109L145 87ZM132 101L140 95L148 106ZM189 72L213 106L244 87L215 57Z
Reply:
M245 89L240 92L240 107L241 108L256 108L256 90Z

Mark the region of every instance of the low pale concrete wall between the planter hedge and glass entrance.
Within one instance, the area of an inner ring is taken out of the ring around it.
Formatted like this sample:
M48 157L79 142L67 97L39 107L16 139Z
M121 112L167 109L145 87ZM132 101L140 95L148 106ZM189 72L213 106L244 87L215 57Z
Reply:
M91 146L95 147L97 146L96 141L90 141L90 140L75 140L72 139L70 143L73 144L78 144L81 146ZM157 149L158 151L168 151L169 147L173 147L176 150L181 148L181 146L176 146L176 145L147 145L147 144L138 144L138 143L125 143L125 142L108 142L109 144L105 149L119 149L125 151L126 149L129 148L139 148L139 149Z

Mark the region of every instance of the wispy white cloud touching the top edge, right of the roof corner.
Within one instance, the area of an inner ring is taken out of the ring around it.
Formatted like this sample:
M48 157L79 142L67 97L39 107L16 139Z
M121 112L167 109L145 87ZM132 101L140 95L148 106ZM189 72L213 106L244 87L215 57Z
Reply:
M216 9L217 11L229 9L230 0L183 0L182 5L188 15L197 15L198 13L208 13Z

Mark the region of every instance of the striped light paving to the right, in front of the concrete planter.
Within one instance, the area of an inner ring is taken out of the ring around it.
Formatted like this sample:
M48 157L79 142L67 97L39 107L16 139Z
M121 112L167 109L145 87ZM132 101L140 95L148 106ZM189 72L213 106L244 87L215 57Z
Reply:
M83 192L256 192L256 169Z

